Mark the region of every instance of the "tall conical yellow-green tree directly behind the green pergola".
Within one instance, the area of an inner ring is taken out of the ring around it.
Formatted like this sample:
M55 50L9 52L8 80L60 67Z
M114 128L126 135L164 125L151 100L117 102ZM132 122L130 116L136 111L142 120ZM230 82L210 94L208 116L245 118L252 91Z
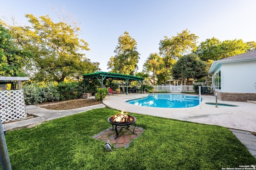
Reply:
M137 43L128 32L124 32L124 35L120 35L118 38L118 45L114 50L116 55L110 57L108 61L108 69L111 72L120 74L134 75L138 70L138 60L140 59L137 52Z

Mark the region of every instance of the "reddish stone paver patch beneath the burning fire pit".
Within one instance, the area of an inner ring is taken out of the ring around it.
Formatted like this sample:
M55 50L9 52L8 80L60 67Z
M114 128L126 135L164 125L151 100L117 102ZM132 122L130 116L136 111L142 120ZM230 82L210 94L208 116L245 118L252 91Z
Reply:
M118 127L117 130L119 132L121 127ZM130 126L129 129L133 131L134 126ZM144 129L142 127L135 127L134 129L134 134L131 133L128 129L123 128L119 135L118 138L115 139L116 137L116 131L115 129L112 130L112 127L100 132L98 135L94 135L94 139L99 139L102 141L110 141L112 144L112 147L118 148L118 147L124 147L128 148L130 146L130 143L132 143L135 139L140 137L140 135L144 132Z

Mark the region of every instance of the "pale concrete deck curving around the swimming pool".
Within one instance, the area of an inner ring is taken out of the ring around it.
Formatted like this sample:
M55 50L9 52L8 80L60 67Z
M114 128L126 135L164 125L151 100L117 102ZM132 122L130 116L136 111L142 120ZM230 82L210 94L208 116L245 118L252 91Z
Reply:
M143 107L128 104L127 100L146 97L148 94L129 94L108 96L103 103L109 108L125 112L153 115L190 121L195 123L204 123L209 125L220 125L231 129L256 132L256 104L250 102L228 102L218 100L218 103L238 105L238 107L212 106L205 102L216 102L215 96L202 95L200 106L189 108L158 108Z

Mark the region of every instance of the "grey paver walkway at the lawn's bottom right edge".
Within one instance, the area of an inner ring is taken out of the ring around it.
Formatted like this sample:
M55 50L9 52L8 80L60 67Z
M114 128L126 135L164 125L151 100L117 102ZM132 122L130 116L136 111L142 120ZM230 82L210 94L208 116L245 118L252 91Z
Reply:
M248 151L256 158L256 136L248 131L230 129L236 138L246 146Z

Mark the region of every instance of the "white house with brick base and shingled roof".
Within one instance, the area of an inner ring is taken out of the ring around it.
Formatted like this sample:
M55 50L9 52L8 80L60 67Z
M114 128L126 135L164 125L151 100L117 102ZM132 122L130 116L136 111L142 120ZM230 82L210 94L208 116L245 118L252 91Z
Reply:
M256 50L214 61L208 76L218 99L256 100Z

